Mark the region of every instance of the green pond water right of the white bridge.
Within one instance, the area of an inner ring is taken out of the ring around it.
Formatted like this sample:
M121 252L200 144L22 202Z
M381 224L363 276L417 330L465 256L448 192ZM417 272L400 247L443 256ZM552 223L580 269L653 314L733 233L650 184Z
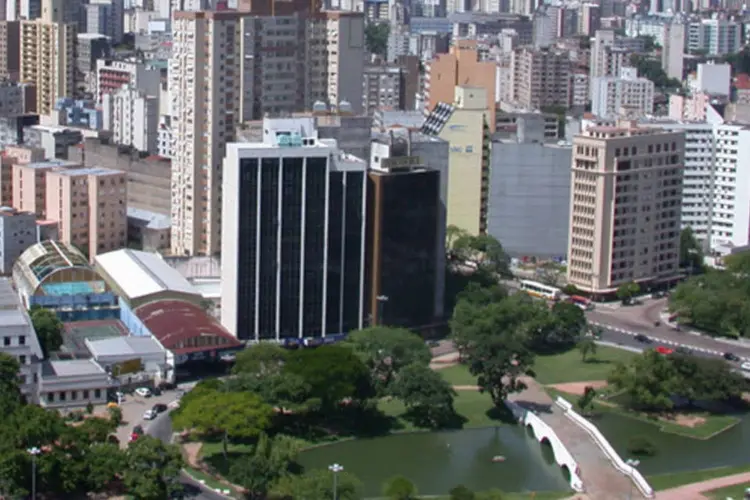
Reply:
M623 458L628 441L643 436L657 449L653 457L638 457L644 475L710 469L750 463L750 417L711 439L692 439L662 432L656 425L622 415L605 413L593 422Z

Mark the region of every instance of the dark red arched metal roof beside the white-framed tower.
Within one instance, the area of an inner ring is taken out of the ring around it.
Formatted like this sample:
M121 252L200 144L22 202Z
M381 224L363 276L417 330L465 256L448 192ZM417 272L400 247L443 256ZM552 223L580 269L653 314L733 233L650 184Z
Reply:
M165 349L175 354L237 348L241 343L195 304L157 300L133 311Z

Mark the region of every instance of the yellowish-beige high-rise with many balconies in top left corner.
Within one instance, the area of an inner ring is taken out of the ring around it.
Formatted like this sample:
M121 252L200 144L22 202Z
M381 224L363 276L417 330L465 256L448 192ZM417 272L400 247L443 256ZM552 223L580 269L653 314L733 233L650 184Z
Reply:
M63 0L44 0L42 15L21 21L20 75L22 82L36 86L36 111L49 114L58 97L75 90L76 24L69 19Z

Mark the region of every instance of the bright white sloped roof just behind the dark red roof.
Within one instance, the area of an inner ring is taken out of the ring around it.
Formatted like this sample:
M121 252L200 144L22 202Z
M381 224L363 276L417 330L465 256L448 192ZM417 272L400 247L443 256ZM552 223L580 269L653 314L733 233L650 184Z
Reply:
M129 300L172 291L200 293L157 253L125 248L97 255L97 268L109 276Z

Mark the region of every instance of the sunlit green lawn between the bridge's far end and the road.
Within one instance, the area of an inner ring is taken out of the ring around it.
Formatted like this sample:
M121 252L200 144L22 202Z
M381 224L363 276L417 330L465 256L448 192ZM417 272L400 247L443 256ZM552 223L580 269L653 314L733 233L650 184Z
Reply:
M634 352L605 346L597 346L596 356L590 356L586 362L578 349L540 355L534 363L535 378L544 385L606 380L618 362L627 363L635 356Z

